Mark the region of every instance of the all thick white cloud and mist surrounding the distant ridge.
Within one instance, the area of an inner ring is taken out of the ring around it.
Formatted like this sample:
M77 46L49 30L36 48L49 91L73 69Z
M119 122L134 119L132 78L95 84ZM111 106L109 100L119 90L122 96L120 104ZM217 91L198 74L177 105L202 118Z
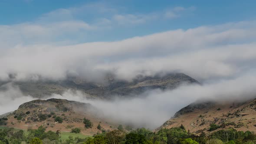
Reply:
M0 81L58 81L74 76L102 83L109 73L115 79L132 81L137 75L154 76L160 72L183 72L197 79L201 85L149 90L143 96L114 101L87 99L82 92L71 90L45 97L90 103L103 111L103 117L154 129L200 99L244 101L256 96L255 26L255 21L241 21L113 42L0 46ZM0 114L34 99L17 87L5 87L0 90Z

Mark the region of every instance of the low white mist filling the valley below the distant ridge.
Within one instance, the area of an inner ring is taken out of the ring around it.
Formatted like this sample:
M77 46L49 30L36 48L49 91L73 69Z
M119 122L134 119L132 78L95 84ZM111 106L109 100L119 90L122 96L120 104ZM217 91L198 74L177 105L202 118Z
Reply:
M255 72L255 71L254 71ZM256 97L256 76L248 72L235 79L210 82L203 85L181 85L174 90L151 90L143 97L115 99L114 101L87 99L82 92L66 91L62 95L49 95L45 98L62 98L92 104L100 110L101 117L112 118L122 124L134 127L158 128L181 108L197 100L246 101ZM23 102L33 100L21 94L18 88L0 93L0 112L15 110ZM11 104L11 105L10 105ZM96 113L97 114L97 113ZM102 115L104 114L104 115Z

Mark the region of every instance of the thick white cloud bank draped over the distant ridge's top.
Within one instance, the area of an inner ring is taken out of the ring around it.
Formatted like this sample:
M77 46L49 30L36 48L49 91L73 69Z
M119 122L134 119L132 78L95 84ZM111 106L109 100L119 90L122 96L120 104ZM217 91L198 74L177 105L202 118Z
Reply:
M42 30L44 32L44 30ZM199 81L225 79L254 68L255 22L178 29L117 42L56 46L17 45L0 49L0 79L100 81L105 72L118 79L158 72L184 72Z

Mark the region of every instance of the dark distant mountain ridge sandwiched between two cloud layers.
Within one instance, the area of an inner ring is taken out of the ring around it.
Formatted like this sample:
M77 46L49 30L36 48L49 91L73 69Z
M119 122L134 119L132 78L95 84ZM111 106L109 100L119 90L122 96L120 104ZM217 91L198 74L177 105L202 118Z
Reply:
M4 84L0 82L0 89L4 89ZM20 81L12 82L18 86L24 95L32 95L41 98L45 95L62 94L67 89L79 90L87 94L89 98L111 99L113 96L136 96L149 89L174 89L182 83L199 83L190 76L183 73L171 73L164 76L155 75L153 77L137 76L131 82L115 79L113 75L107 75L102 84L87 82L82 78L69 77L62 81Z

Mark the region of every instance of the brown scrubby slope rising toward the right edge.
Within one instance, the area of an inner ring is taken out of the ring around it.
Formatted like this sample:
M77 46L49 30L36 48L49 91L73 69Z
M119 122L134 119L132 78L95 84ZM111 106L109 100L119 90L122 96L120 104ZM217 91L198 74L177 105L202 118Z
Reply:
M161 128L184 125L192 133L210 134L221 129L256 132L256 99L246 102L195 102L182 108Z

